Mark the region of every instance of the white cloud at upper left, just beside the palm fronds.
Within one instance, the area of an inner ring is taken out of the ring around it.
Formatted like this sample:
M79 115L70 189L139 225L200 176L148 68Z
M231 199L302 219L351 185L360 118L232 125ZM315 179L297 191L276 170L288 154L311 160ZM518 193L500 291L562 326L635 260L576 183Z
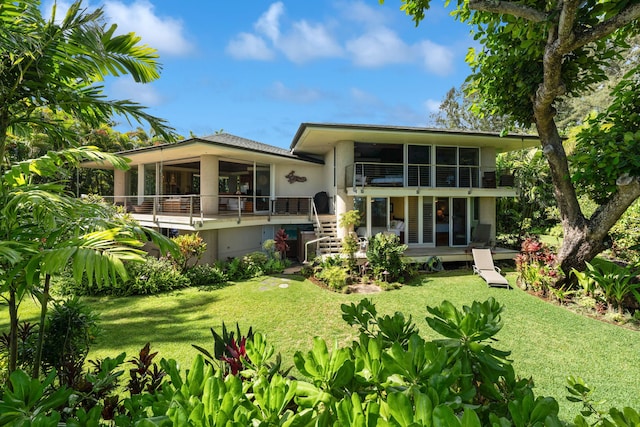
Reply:
M118 24L119 33L135 32L142 42L158 49L161 54L185 55L193 46L184 35L183 23L172 17L155 14L147 0L136 0L130 5L120 1L107 1L104 5L109 22Z

